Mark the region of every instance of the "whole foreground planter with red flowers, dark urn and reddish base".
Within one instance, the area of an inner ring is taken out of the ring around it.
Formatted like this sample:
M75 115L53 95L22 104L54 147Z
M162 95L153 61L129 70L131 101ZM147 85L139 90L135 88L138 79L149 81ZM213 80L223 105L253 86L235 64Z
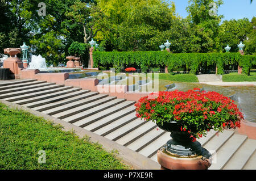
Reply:
M135 106L137 117L171 132L167 146L158 151L158 162L167 169L208 169L210 153L196 138L206 136L210 129L239 128L243 119L233 100L199 88L152 93Z

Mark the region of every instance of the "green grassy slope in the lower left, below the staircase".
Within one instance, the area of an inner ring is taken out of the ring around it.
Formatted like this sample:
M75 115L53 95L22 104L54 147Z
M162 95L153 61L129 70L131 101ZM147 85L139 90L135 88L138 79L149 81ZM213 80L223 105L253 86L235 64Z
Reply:
M0 169L130 169L101 145L0 104ZM46 163L38 163L39 150Z

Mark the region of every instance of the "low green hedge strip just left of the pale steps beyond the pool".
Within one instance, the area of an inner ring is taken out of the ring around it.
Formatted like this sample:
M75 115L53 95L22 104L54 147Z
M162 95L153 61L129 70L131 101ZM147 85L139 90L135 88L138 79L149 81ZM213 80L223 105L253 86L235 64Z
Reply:
M196 75L194 74L166 74L161 73L159 74L159 79L165 79L168 81L177 81L177 82L199 82Z

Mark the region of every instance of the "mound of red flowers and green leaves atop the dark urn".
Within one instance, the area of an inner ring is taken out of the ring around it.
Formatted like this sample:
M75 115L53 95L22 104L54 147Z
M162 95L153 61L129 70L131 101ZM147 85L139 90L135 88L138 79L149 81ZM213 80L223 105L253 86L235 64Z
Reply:
M157 96L154 96L157 95ZM234 101L217 92L196 88L183 91L160 91L139 99L135 104L137 116L145 120L176 121L181 131L188 131L191 138L205 136L210 129L222 131L240 127L242 113Z

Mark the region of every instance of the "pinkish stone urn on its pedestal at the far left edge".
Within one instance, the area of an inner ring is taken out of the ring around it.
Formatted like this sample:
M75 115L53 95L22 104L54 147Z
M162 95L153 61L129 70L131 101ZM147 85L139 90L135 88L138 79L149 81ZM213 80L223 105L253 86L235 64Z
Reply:
M10 78L19 78L20 71L24 69L22 60L15 55L21 52L20 48L5 48L3 49L5 54L9 54L10 57L3 62L3 68L10 69Z

